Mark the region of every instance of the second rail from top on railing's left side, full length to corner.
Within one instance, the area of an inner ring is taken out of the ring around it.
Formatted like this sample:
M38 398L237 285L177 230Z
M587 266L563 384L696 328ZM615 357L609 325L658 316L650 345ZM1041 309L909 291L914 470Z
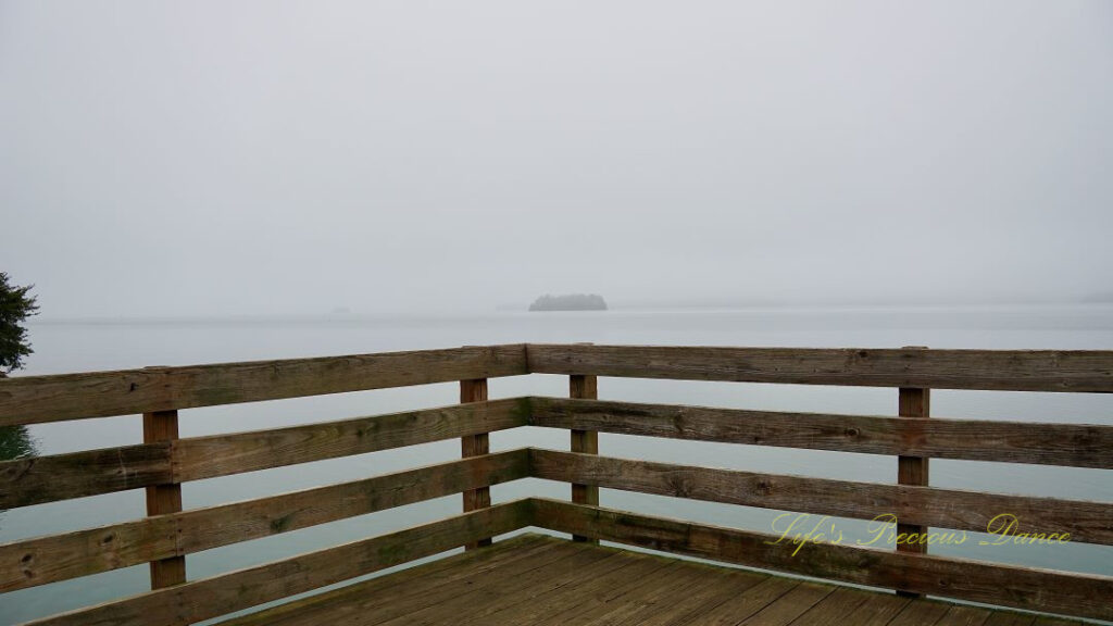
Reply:
M150 443L0 461L0 509L429 443L528 419L529 400L508 399L179 439L173 449Z

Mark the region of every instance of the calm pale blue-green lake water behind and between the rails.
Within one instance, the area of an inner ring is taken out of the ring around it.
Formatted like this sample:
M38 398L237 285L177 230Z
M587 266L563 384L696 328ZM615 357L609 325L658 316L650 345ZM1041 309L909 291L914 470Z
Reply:
M21 374L286 359L520 342L671 345L1113 349L1113 306L759 309L737 311L498 312L460 316L331 316L319 319L48 322L31 325L36 353ZM455 403L457 385L434 384L257 402L181 412L183 437L331 421ZM492 399L565 395L565 376L494 379ZM894 389L827 388L600 379L600 398L640 402L837 413L896 414ZM1113 424L1113 394L934 391L932 414L946 418ZM136 415L33 426L40 454L141 441ZM526 428L491 436L494 451L522 446L568 449L568 432ZM894 482L896 459L843 452L771 449L607 436L608 456ZM457 441L190 482L186 508L295 489L459 458ZM932 461L932 485L1003 493L1113 501L1113 470L973 461ZM536 479L492 489L494 501L530 495L567 498L568 486ZM602 490L603 506L771 531L780 511ZM190 555L190 579L213 576L415 524L455 515L460 497L441 498L294 532ZM1005 511L1003 511L1005 512ZM142 517L141 490L0 512L0 542ZM867 538L866 524L836 520L847 540ZM1113 575L1104 546L933 546L934 554ZM16 624L145 591L147 566L0 595L0 624Z

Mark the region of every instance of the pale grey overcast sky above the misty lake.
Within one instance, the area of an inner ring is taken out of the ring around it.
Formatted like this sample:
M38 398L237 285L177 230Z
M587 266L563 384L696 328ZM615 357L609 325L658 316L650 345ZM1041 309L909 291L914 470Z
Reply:
M1113 291L1113 2L0 0L43 316Z

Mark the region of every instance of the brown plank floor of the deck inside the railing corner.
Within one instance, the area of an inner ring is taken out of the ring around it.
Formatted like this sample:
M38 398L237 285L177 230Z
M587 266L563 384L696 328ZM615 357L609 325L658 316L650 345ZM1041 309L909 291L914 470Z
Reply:
M223 624L1064 626L1032 614L523 535Z

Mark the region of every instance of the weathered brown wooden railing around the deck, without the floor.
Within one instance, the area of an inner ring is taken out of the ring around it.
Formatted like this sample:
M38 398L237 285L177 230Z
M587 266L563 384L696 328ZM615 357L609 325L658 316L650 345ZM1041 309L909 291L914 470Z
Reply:
M570 376L570 398L487 400L487 380ZM786 413L597 399L597 376L897 388L897 417ZM195 407L461 382L461 404L255 432L177 436ZM1113 468L1113 427L928 418L929 389L1113 392L1113 352L806 350L518 344L357 356L158 368L0 381L0 426L145 415L136 446L0 462L0 508L148 490L148 517L0 546L0 591L151 564L152 590L36 624L189 624L282 599L525 527L991 605L1113 619L1113 578L848 545L617 511L599 488L874 519L900 531L1017 532L1113 545L1113 503L927 485L927 459ZM491 453L487 433L568 429L571 452ZM903 459L897 483L708 469L599 456L621 433L837 450ZM180 510L180 485L322 459L460 439L462 459L267 498ZM571 501L491 505L490 487L526 477L571 483ZM187 555L463 493L460 516L289 559L186 581ZM926 547L926 546L925 546ZM918 548L918 546L917 546ZM794 552L796 552L794 555Z

